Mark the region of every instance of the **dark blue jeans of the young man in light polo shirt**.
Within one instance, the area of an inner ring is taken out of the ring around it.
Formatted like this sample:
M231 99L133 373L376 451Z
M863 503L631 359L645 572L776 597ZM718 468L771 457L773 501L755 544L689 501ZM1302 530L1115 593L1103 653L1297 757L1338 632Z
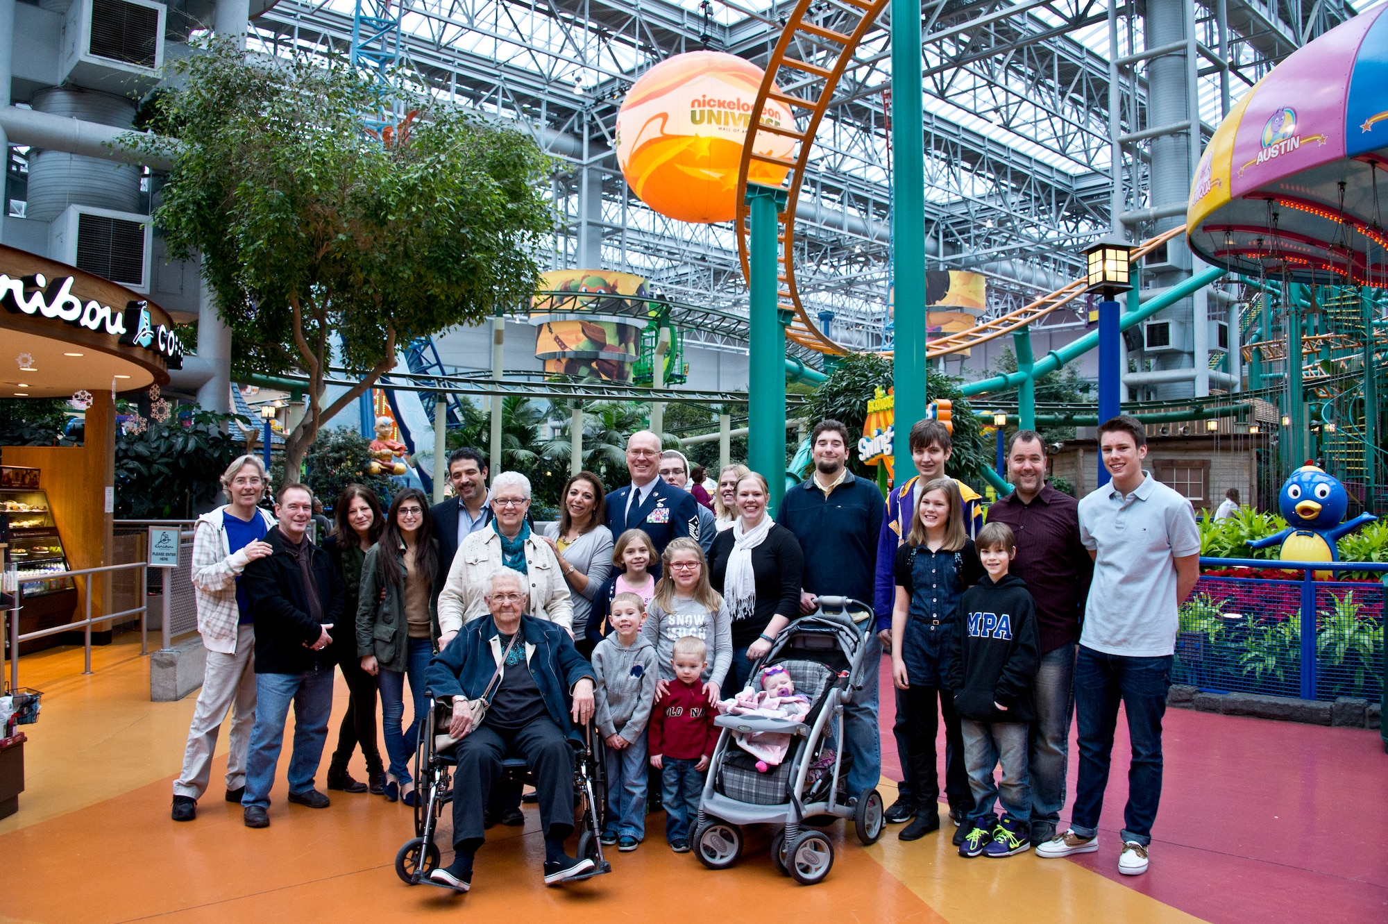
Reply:
M1103 789L1109 784L1113 730L1119 703L1128 719L1133 762L1123 809L1124 841L1152 842L1152 823L1162 801L1162 716L1171 687L1171 656L1126 658L1080 645L1074 662L1074 715L1080 723L1080 780L1070 827L1084 838L1099 830Z

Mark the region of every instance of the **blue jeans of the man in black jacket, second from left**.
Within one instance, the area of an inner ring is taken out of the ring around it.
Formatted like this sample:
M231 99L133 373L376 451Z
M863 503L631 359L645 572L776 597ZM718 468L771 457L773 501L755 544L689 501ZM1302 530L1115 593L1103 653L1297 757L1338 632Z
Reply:
M246 755L242 806L269 807L290 703L294 706L294 753L289 759L289 791L298 794L314 788L314 773L328 741L328 717L333 712L336 670L333 666L301 674L255 674L255 727Z

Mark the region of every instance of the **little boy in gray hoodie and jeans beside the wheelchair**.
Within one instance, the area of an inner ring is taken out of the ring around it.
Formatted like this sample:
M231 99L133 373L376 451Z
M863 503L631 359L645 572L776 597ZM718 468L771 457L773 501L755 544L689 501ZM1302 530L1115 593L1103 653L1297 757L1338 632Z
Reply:
M645 839L645 724L659 678L655 647L641 637L645 604L618 594L608 609L612 635L593 649L597 674L593 715L607 744L607 824L602 844L634 850Z

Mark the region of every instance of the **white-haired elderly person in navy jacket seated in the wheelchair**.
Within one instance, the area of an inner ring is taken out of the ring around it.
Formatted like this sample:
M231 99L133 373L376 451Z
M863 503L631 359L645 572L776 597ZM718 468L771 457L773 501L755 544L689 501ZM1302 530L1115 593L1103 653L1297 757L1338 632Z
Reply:
M425 674L436 701L451 699L447 731L457 739L436 745L440 753L451 749L457 760L455 856L428 881L458 892L472 887L472 859L484 841L483 809L507 758L525 758L539 791L545 885L586 878L600 871L597 863L591 856L568 856L564 842L573 831L575 759L582 748L569 738L575 724L582 728L593 716L593 666L564 628L523 613L520 573L491 574L486 601L490 617L465 624Z

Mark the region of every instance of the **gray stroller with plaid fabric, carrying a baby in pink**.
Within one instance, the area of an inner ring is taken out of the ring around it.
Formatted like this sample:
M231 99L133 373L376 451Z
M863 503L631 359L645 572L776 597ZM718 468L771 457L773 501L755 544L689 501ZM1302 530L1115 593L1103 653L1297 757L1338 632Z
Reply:
M776 869L801 885L813 885L829 875L834 845L829 835L809 825L834 819L852 819L863 845L881 837L883 805L877 789L849 794L844 782L851 756L831 741L844 741L844 706L863 687L863 671L877 665L863 663L865 627L849 610L872 608L845 597L820 597L819 609L783 628L770 651L754 669L770 665L786 669L795 692L812 703L799 721L791 719L719 716L723 731L709 762L700 799L693 848L704 866L726 870L743 852L745 824L784 825L772 839ZM786 759L769 773L759 773L756 759L733 739L733 731L776 731L794 735Z

